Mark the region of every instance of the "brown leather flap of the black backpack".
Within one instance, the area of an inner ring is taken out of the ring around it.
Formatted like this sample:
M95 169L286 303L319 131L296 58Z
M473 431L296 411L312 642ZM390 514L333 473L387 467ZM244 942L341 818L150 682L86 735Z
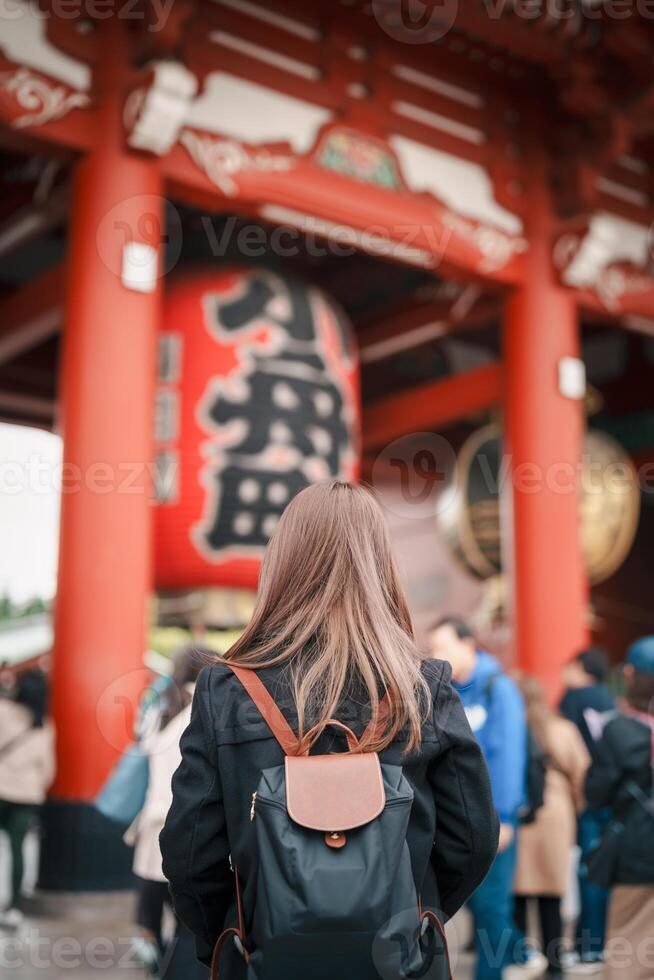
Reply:
M286 807L302 827L353 830L378 817L385 803L375 752L286 757Z

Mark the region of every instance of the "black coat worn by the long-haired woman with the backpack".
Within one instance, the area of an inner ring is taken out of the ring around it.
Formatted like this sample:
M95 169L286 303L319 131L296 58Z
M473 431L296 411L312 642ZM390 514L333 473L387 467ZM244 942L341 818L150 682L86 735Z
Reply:
M404 755L398 737L381 761L403 765L415 799L407 842L423 905L448 918L480 884L497 850L498 820L488 772L458 695L449 665L428 661L424 673L433 697L419 752ZM297 717L282 668L260 676L291 725ZM368 711L369 713L369 711ZM343 703L339 720L360 735L366 710ZM338 731L337 729L333 730ZM313 751L346 747L342 736L324 733ZM191 721L182 736L182 762L173 778L173 803L161 834L163 868L179 918L195 933L205 962L226 924L235 924L234 880L238 867L246 923L255 902L252 793L262 769L283 763L283 753L240 682L222 664L198 679ZM242 976L231 944L226 975Z

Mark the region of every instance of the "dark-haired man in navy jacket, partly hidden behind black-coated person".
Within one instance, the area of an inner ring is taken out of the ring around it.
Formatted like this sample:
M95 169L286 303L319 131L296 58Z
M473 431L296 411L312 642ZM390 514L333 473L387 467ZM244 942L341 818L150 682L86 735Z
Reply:
M563 668L565 693L559 711L577 726L593 759L597 742L591 728L596 728L600 716L615 710L613 695L605 683L608 673L609 659L600 647L580 650ZM577 839L582 853L589 851L599 841L607 820L607 813L590 808L580 814ZM585 876L579 878L579 892L581 914L577 922L573 959L587 964L588 970L591 970L599 967L602 959L609 895L604 888L591 884ZM574 964L571 962L570 965Z

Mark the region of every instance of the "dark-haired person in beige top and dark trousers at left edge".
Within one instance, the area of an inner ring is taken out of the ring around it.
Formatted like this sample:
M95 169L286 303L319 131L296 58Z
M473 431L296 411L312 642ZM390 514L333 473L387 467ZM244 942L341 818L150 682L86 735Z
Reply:
M22 919L23 842L55 773L47 700L47 680L40 670L20 675L15 698L0 698L0 829L11 847L11 901L0 917L4 926L17 926Z

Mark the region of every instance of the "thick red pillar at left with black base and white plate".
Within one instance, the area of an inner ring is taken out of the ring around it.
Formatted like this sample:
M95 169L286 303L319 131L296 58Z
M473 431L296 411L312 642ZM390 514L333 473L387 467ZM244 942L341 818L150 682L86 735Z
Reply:
M57 777L41 867L43 887L73 890L123 881L128 854L90 801L131 737L146 676L151 588L161 181L156 163L123 143L127 59L119 27L104 45L108 58L95 79L98 140L77 168L68 252L53 660Z

